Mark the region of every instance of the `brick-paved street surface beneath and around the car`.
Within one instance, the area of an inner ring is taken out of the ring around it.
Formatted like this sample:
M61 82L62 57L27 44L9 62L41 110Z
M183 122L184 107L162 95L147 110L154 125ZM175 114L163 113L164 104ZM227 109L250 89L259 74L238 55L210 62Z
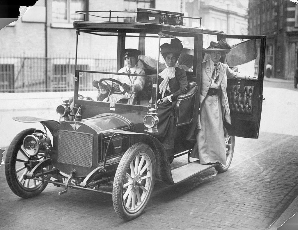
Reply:
M236 137L233 161L227 172L218 174L212 168L175 186L156 182L146 211L130 222L117 217L111 197L105 194L69 190L58 196L62 188L48 185L38 197L20 199L7 186L4 165L1 165L0 229L275 230L281 225L283 230L298 229L298 218L294 215L298 212L298 128L293 123L297 120L293 113L297 114L298 109L295 101L291 101L291 98L297 98L298 90L293 85L288 80L264 79L266 100L263 102L260 137ZM28 100L23 100L18 107L15 106L17 96L12 98L12 94L2 94L7 107L4 107L6 111L0 112L0 134L5 130L0 147L7 146L15 133L27 125L14 121L4 124L4 121L11 120L12 115L58 119L54 108L62 96L69 96L66 94L38 93L36 101L32 101L36 95L25 97L21 94L22 99ZM72 96L73 93L69 94ZM51 96L47 98L46 95ZM281 100L285 102L277 105L276 101L285 96L288 98ZM53 104L45 110L43 103ZM32 115L30 109L34 107L42 109ZM277 114L277 110L291 112ZM174 159L171 166L178 167L185 161L185 157Z

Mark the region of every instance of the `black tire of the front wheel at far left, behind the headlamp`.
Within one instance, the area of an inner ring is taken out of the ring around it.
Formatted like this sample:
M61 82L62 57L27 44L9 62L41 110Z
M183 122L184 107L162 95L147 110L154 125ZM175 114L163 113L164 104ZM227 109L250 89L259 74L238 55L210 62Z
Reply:
M32 134L34 130L35 129L25 129L18 135L16 135L8 147L7 154L5 157L5 176L7 184L13 191L13 193L15 193L15 195L18 195L22 198L30 198L39 195L48 184L47 182L39 182L35 187L30 188L28 183L28 187L25 187L19 182L17 172L15 169L17 155L18 153L21 154L19 152L19 149L23 145L23 140L27 135ZM25 168L24 170L27 169Z

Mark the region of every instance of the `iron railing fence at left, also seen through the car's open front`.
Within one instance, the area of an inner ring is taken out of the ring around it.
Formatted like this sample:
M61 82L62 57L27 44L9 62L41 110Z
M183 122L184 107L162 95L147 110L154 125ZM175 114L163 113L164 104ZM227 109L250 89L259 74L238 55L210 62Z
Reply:
M110 57L78 58L77 69L116 72L117 60ZM74 76L73 57L0 57L0 93L72 91ZM82 90L93 90L86 78L80 78L80 81Z

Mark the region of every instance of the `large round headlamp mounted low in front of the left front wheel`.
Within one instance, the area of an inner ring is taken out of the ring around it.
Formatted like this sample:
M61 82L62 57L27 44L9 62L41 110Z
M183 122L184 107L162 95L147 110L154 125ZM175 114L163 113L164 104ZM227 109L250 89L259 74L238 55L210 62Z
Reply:
M50 139L45 130L36 129L34 133L27 135L23 140L24 151L29 156L35 156L39 151L48 154Z

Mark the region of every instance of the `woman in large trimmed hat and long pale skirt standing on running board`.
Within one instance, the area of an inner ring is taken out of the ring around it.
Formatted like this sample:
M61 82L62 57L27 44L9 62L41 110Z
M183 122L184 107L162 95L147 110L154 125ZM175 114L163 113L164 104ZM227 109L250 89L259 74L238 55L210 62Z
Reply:
M203 49L203 52L210 54L210 59L202 62L198 134L190 154L190 157L198 158L200 164L219 162L226 165L223 119L231 124L227 79L258 79L257 76L234 72L228 65L219 62L221 56L230 51L231 47L224 40L211 42L207 49Z

